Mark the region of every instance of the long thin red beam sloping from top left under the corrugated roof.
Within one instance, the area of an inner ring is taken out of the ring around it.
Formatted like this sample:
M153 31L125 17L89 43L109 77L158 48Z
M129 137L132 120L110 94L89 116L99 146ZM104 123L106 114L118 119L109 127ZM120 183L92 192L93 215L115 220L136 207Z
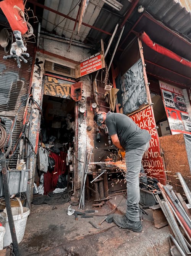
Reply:
M38 6L38 7L40 7L40 8L45 9L45 10L48 10L48 11L50 11L50 12L56 13L56 14L62 16L62 17L65 17L65 18L69 19L69 20L73 20L74 22L76 21L76 19L74 19L74 18L72 18L72 17L70 17L70 16L68 16L68 15L65 15L65 14L63 14L63 13L61 13L61 12L58 12L58 11L56 11L56 10L53 10L52 8L49 8L49 7L45 6L45 5L42 5L41 3L37 3L37 2L35 2L35 1L33 1L33 0L27 0L27 2L28 2L28 3L32 3L34 6ZM79 21L77 21L77 22L79 22ZM96 28L95 26L91 26L91 25L89 25L89 24L87 24L87 23L82 22L82 25L87 26L87 27L92 28L92 29L95 29L95 30L98 30L98 31L100 31L100 32L102 32L102 33L104 33L104 34L107 34L107 35L110 35L110 36L112 35L111 33L107 32L107 31L105 31L105 30L102 30L102 29L100 29L100 28Z

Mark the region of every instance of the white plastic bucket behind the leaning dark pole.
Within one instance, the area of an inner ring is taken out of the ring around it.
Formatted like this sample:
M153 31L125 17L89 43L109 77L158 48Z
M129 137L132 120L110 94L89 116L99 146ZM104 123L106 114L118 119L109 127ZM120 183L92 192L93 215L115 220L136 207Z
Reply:
M26 221L29 216L30 210L27 207L23 207L21 201L19 198L17 198L19 201L19 207L11 207L12 214L13 214L13 220L15 223L15 231L16 231L16 237L18 243L21 243L24 237L24 231L26 227ZM4 210L6 213L6 209ZM12 243L11 239L11 233L8 223L8 217L6 217L6 225L5 225L5 236L4 236L4 242L3 247L8 246Z

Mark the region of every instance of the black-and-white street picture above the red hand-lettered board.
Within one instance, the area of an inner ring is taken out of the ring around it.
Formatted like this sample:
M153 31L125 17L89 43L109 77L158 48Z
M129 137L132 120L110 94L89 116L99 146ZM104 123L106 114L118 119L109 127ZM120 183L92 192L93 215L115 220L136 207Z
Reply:
M120 79L123 114L148 104L141 58Z

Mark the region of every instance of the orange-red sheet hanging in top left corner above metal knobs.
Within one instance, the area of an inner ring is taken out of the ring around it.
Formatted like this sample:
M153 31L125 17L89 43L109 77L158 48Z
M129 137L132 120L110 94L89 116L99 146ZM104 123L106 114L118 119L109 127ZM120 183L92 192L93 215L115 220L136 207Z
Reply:
M26 22L19 15L20 10L24 13L23 0L4 0L0 2L0 8L5 14L11 29L19 30L21 34L25 34L28 30Z

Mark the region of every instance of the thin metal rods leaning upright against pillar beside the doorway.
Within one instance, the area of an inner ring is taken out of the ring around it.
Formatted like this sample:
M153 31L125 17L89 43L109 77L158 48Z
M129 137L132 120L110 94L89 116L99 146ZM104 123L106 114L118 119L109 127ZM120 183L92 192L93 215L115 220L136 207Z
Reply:
M93 148L92 148L92 150L93 150ZM89 160L88 160L87 149L86 149L86 152L84 155L84 165L83 165L83 172L82 172L82 178L81 178L80 200L79 200L78 209L80 207L84 208L84 205L85 205L85 184L86 184L86 177L87 177L87 173L88 173L89 163L91 160L92 150L91 150Z

